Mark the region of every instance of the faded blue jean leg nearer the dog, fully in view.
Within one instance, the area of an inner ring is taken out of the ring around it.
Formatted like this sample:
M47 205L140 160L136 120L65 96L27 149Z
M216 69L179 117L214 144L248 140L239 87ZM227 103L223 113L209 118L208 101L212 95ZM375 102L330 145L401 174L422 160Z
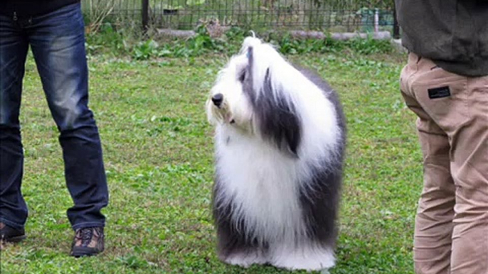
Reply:
M98 128L88 108L88 70L80 4L33 18L29 42L60 131L73 229L105 226L108 189Z

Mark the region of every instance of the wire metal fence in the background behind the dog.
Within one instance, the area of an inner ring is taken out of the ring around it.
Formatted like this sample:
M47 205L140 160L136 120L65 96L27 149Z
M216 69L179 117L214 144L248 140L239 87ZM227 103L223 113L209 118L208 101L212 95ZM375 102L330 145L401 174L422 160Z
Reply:
M221 26L330 31L389 30L393 0L83 0L88 18L133 20L157 28Z

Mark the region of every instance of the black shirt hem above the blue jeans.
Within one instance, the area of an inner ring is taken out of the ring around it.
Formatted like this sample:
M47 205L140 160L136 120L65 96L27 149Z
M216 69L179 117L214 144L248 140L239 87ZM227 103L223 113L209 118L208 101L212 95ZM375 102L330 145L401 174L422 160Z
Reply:
M78 2L80 0L0 0L0 13L6 16L39 16Z

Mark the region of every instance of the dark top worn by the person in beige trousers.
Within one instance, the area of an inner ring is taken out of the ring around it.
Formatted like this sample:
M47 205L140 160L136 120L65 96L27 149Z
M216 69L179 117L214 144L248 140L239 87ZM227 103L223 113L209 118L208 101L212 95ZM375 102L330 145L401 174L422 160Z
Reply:
M444 70L488 75L488 0L395 0L402 43Z

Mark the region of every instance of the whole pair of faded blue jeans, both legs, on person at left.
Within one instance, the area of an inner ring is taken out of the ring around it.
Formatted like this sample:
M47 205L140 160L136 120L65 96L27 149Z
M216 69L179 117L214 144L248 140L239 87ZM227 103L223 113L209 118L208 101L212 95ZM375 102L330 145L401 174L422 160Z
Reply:
M102 147L88 108L88 70L80 4L42 16L0 15L0 222L23 228L23 148L18 120L28 46L36 60L49 109L60 131L65 180L74 206L73 229L105 226L108 204ZM49 197L46 197L49 199Z

